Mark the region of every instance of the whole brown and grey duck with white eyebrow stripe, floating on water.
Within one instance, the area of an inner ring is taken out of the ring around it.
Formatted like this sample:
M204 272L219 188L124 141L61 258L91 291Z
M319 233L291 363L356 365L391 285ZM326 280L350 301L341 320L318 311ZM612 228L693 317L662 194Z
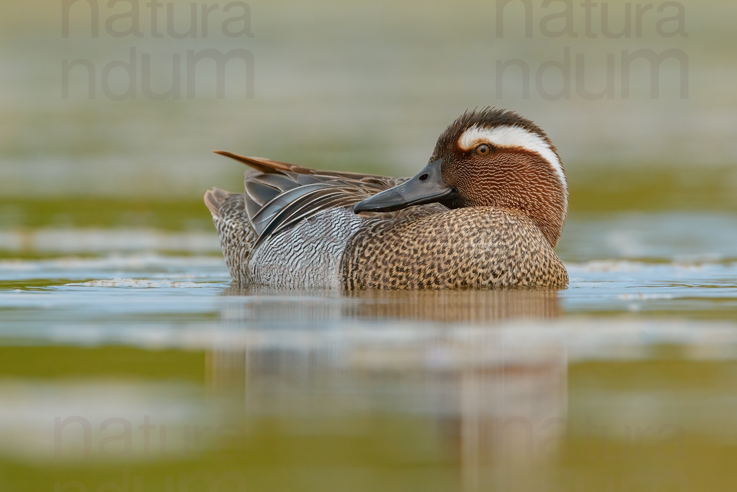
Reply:
M236 288L567 288L565 170L515 111L465 111L411 178L214 152L250 167L204 196Z

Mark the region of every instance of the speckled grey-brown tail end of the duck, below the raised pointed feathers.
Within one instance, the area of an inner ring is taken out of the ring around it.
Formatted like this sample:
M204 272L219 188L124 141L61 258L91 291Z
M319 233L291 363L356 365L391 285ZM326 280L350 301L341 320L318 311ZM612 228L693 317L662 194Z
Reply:
M213 188L207 190L204 200L234 283L239 287L248 285L248 260L257 238L245 211L245 197Z

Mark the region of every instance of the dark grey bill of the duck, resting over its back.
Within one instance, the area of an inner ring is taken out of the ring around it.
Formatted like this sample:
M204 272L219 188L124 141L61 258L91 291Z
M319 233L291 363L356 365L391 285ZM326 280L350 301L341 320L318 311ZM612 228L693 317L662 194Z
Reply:
M455 190L443 181L441 164L442 159L430 162L408 181L359 201L353 211L394 212L413 205L447 201L455 195Z

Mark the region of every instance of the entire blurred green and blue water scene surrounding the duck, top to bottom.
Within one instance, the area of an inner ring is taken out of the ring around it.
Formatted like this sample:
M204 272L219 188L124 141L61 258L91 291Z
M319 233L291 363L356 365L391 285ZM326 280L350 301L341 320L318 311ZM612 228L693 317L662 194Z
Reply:
M0 489L734 490L735 18L2 1ZM411 176L486 105L559 150L569 289L229 287L211 150Z

